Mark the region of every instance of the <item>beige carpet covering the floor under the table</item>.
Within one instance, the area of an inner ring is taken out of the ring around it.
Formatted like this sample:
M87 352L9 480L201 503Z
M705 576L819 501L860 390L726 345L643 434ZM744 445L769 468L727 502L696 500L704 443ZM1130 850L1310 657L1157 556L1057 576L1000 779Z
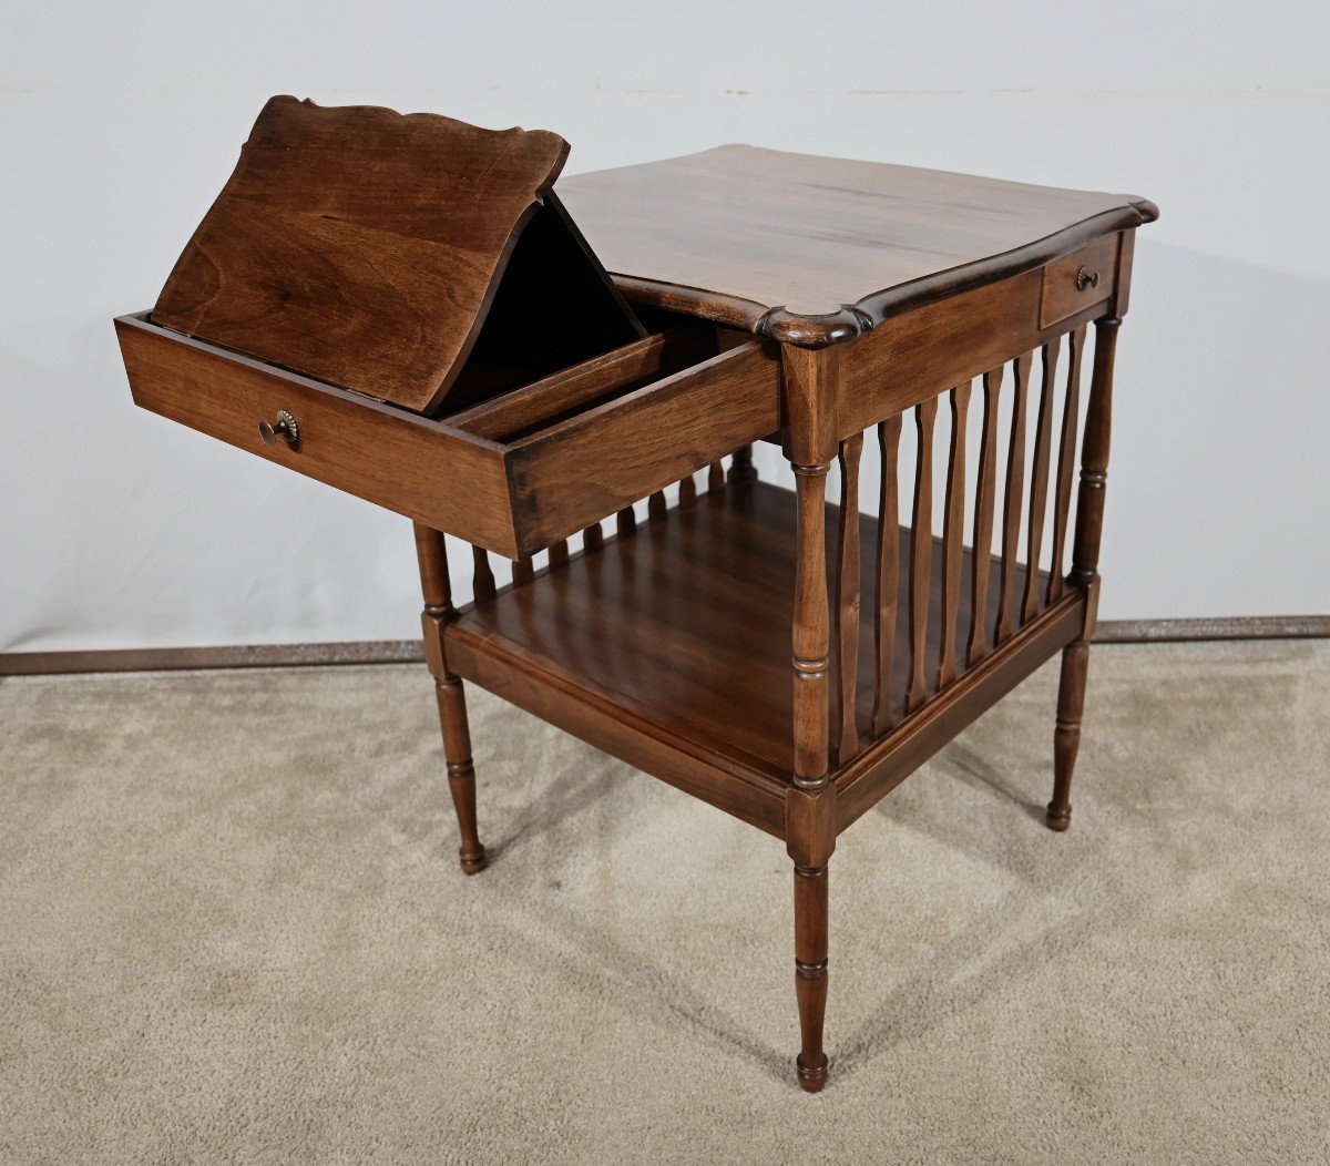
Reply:
M0 1162L1330 1158L1330 643L1045 669L842 836L833 1077L782 847L420 667L0 683Z

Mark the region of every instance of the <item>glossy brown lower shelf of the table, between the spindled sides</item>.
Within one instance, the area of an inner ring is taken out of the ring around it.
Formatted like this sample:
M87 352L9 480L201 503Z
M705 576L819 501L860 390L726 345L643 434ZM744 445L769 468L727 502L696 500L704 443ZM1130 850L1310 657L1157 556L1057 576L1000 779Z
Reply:
M827 509L831 553L838 511ZM730 483L692 505L669 511L629 537L609 538L591 554L573 556L528 584L464 608L448 625L448 663L464 679L779 834L793 764L794 517L790 491L766 483ZM871 516L861 517L861 540L864 618L858 705L859 725L866 730L875 658L871 608L876 520ZM903 528L902 576L910 562L908 540L910 530ZM935 553L930 659L936 659L940 647L940 560ZM987 568L991 632L1000 564L988 560ZM967 550L960 641L970 633L964 597L971 570ZM1019 570L1017 594L1024 589L1024 569ZM906 594L902 577L902 598ZM1071 606L1072 597L1064 598L1025 630L1048 626L1055 614ZM908 669L907 618L908 605L902 602L894 657L896 694L904 691ZM1003 691L1047 658L1049 645L1044 641L1065 642L1075 634L1068 632L1071 628L1072 621L1060 618L1056 634L1039 637L1040 658L1028 667L1012 669L1020 675ZM1031 636L1017 633L992 654L988 671L1001 667L1003 657L1029 641ZM960 690L974 671L963 673L947 694ZM992 699L998 695L995 689ZM903 718L902 711L899 729L884 741L908 729L931 703L910 718ZM978 713L971 709L967 719L974 715ZM838 772L858 780L864 771L861 757ZM726 782L738 784L729 790ZM754 810L750 802L762 804ZM773 804L765 806L767 802Z

